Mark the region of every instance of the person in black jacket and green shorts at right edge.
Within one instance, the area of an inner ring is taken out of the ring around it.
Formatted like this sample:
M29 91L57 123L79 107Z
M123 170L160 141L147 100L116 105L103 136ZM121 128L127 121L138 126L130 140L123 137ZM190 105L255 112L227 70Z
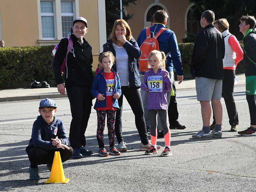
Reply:
M256 135L256 20L253 16L242 16L239 25L244 39L244 65L246 79L246 100L249 106L251 125L240 135Z

